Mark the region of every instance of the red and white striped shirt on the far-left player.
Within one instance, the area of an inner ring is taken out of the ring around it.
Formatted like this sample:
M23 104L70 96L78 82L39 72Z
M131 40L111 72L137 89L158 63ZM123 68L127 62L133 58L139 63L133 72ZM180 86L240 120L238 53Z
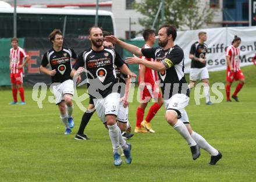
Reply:
M27 53L21 47L18 47L16 50L13 48L10 49L10 66L12 67L10 70L11 74L23 73L23 68L18 69L18 65L22 65L23 59L27 56Z

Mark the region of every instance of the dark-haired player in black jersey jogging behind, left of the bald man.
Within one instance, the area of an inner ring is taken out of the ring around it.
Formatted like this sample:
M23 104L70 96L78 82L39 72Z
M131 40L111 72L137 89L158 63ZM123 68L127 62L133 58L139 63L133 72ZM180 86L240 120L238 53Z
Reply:
M49 34L49 41L52 43L52 48L44 53L40 71L52 78L56 105L59 106L61 119L66 128L65 134L70 134L74 127L72 116L74 87L72 77L70 77L72 70L70 59L76 59L77 55L72 48L62 46L61 30L55 29L52 31ZM51 66L51 70L46 68L47 65Z

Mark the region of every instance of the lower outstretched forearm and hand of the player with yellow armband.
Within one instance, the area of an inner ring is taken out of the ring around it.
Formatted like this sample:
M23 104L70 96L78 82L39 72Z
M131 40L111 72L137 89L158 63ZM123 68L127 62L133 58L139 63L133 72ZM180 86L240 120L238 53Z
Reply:
M163 71L168 69L168 67L166 67L164 65L164 63L160 63L160 62L151 62L145 59L141 59L138 58L137 56L133 56L133 57L127 57L125 60L126 63L128 64L142 64L146 67L149 67L152 70L157 70L157 71Z

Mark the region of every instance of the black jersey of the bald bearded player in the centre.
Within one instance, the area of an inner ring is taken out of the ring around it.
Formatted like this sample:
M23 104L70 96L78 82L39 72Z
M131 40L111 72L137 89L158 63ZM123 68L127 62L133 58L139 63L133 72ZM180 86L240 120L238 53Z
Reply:
M73 69L84 67L86 69L88 94L102 98L118 91L118 78L115 65L120 67L124 64L115 49L105 48L102 51L94 51L92 48L81 52L74 64Z

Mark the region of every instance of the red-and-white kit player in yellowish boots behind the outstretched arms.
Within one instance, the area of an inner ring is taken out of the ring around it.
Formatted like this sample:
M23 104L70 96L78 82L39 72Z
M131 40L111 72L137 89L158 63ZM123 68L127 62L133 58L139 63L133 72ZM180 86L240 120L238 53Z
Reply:
M145 45L143 48L151 48L152 45L155 44L155 31L149 29L144 30L143 38L145 40ZM155 62L155 60L152 58L145 58L145 56L141 58ZM137 108L137 120L134 132L147 133L149 131L151 133L155 133L155 131L152 130L150 121L163 104L163 98L161 92L159 91L157 71L145 67L144 65L139 65L138 83L140 84L141 100L140 105ZM155 100L155 103L150 107L150 110L148 110L148 115L145 117L145 120L143 120L144 110L151 98ZM144 127L146 130L144 130L142 127Z

